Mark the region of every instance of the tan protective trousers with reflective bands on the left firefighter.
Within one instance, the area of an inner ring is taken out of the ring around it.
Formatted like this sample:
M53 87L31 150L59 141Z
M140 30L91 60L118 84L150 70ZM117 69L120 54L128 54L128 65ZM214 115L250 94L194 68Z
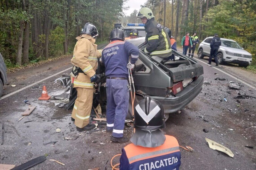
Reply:
M89 124L91 107L93 105L93 88L75 87L77 99L71 117L75 119L75 125L83 128Z

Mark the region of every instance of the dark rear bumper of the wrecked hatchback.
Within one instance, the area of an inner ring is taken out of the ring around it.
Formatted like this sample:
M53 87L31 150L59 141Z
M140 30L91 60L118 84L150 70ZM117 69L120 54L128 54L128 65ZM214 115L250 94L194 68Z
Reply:
M160 96L150 96L152 99L158 100L163 108L164 113L174 113L187 104L189 104L197 95L201 92L203 85L203 76L199 76L197 80L190 83L184 90L179 92L175 97L160 97Z

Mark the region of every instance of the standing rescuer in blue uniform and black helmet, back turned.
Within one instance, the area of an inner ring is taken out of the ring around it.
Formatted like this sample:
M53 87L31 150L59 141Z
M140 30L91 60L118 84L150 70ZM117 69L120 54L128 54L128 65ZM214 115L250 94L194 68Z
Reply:
M123 136L129 106L128 67L133 69L139 56L138 47L123 40L123 31L115 28L110 33L110 43L102 50L102 62L107 77L106 130L112 132L111 141L120 143L129 141Z

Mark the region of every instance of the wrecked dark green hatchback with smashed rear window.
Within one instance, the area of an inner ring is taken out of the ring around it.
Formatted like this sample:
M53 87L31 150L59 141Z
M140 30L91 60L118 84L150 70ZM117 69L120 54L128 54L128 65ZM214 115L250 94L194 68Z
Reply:
M155 61L142 50L145 48L145 37L126 40L137 45L139 48L139 58L135 63L133 73L135 86L135 102L149 96L158 100L164 108L164 113L174 113L189 104L202 90L203 67L192 58L180 52L172 51L176 61L167 61L163 64ZM99 86L96 90L102 107L106 105L106 90L104 76L104 66L98 60L97 74L101 76ZM131 96L130 96L131 99ZM94 101L94 103L97 103ZM131 100L129 103L129 114L132 116ZM168 115L166 115L168 116Z

